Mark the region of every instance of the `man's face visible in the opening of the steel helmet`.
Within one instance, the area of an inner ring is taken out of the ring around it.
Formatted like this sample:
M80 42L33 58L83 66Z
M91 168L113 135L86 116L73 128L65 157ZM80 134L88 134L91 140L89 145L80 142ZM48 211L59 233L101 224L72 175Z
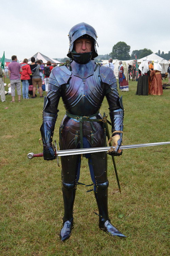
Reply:
M74 50L77 53L86 53L86 52L91 52L92 49L92 41L82 38L82 39L77 39L74 42Z

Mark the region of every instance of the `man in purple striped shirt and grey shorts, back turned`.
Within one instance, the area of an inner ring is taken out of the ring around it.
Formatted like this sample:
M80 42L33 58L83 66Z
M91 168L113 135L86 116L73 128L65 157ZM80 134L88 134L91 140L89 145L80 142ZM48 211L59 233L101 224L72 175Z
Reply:
M21 100L21 79L20 72L22 72L21 65L17 62L17 56L13 55L12 62L8 65L8 74L11 82L12 101L15 102L15 86L18 94L18 102Z

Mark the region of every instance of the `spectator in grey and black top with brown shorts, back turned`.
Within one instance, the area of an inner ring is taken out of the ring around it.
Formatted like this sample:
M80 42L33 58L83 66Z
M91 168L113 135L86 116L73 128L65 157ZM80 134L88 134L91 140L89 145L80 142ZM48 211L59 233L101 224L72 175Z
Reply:
M32 64L30 65L31 71L32 71L32 84L33 84L33 96L31 97L32 99L35 98L35 92L36 92L36 88L37 88L37 84L39 87L39 95L40 98L43 98L43 90L42 90L42 80L41 77L39 75L39 72L41 70L40 65L35 64L35 58L32 57L31 58L31 62ZM37 60L37 63L39 63L39 61ZM41 63L41 62L40 62Z

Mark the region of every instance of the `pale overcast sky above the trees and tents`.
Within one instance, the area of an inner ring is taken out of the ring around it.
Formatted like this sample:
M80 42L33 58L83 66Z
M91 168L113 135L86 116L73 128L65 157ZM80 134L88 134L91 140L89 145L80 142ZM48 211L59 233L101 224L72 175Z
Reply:
M68 32L85 22L98 35L98 54L109 54L124 41L134 50L170 51L167 0L0 0L0 57L18 60L40 52L64 58L69 49Z

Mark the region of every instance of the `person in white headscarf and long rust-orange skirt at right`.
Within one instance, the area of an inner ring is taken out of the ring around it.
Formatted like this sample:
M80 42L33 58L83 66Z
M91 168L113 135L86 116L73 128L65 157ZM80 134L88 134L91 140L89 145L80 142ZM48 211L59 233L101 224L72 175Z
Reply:
M163 95L163 87L162 87L162 76L160 71L162 67L158 63L158 60L154 60L153 69L150 73L151 77L151 88L150 94L151 95Z

